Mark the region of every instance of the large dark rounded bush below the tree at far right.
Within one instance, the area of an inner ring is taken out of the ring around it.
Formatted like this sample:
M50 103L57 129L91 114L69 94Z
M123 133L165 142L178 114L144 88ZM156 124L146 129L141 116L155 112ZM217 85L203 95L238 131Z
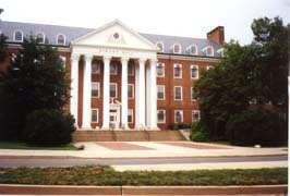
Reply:
M249 110L232 115L226 125L226 134L233 145L279 146L287 144L287 122L278 113Z

